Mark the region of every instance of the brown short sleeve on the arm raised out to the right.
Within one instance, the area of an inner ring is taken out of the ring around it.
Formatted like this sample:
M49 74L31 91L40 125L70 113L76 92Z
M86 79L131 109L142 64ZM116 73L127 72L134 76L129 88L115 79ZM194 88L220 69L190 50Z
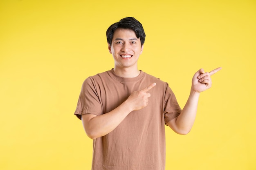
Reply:
M173 91L167 84L164 96L164 123L167 125L172 119L180 115L181 111Z

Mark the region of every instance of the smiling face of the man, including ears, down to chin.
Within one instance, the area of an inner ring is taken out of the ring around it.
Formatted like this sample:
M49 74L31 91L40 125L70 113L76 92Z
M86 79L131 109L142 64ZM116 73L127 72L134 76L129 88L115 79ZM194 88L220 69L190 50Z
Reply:
M115 60L115 68L137 69L139 55L143 51L140 39L131 29L116 29L113 35L112 44L108 44L109 52Z

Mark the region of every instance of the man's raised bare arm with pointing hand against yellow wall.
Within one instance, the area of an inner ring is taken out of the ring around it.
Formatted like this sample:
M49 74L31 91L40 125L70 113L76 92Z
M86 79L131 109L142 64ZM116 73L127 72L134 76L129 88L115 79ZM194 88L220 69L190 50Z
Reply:
M221 70L221 67L214 69L209 73L205 73L201 68L195 73L192 79L192 86L189 95L182 112L175 119L168 123L176 133L186 135L190 132L197 112L198 99L202 91L211 88L211 75Z

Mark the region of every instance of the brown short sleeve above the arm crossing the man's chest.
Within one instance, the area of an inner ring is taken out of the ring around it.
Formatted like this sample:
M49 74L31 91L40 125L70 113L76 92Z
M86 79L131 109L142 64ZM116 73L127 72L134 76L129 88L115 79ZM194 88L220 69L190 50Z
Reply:
M74 113L79 119L82 119L83 114L102 114L102 105L97 93L97 86L92 77L88 77L83 82Z

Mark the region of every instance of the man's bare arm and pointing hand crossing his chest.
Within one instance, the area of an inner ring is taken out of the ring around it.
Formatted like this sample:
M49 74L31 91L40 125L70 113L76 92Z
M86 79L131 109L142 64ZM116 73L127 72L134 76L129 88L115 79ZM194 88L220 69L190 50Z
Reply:
M153 83L141 91L133 92L128 99L120 106L102 115L84 114L82 115L82 123L86 134L91 139L96 139L107 135L114 130L121 121L133 110L140 110L148 105L148 97L150 93L147 93L156 84Z

